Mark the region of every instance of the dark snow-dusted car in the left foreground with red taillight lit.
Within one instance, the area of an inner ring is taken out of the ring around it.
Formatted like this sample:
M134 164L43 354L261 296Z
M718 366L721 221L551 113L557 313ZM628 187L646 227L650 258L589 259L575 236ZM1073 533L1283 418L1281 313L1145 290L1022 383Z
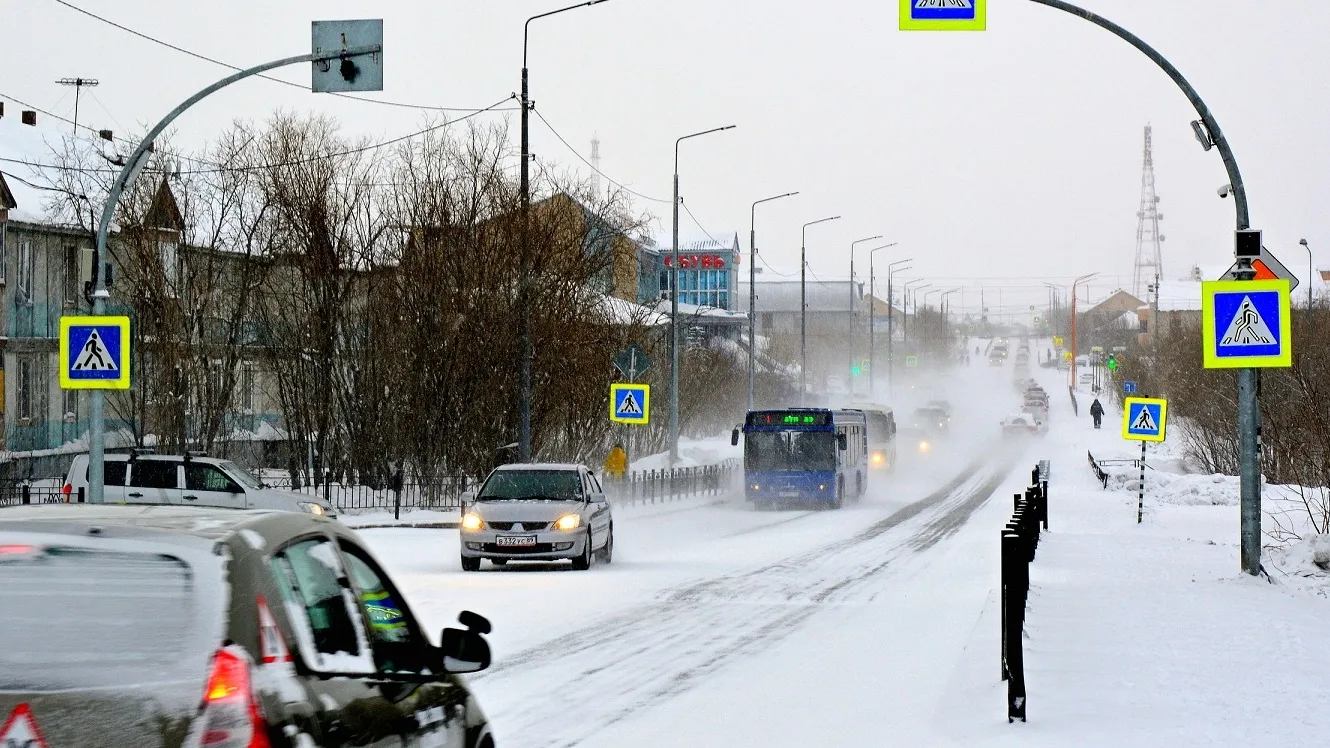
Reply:
M493 748L459 677L489 665L489 622L459 620L430 642L325 516L0 510L0 724L27 745Z

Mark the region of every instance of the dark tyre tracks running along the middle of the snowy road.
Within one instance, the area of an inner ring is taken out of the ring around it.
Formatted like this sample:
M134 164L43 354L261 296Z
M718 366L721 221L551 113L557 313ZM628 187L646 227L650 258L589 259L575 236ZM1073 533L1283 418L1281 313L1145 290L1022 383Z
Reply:
M1001 455L979 461L846 540L688 584L495 664L473 680L485 689L495 685L511 704L503 708L489 697L491 716L503 725L497 737L505 745L571 748L688 691L789 636L822 607L853 598L892 563L950 536L1009 472ZM910 535L892 534L926 514Z

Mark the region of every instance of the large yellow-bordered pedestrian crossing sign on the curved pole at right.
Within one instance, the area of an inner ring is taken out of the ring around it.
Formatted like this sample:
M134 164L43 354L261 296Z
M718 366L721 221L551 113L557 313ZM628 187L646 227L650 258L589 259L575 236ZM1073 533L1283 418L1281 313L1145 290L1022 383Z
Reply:
M1206 369L1293 366L1287 281L1201 283L1201 345Z

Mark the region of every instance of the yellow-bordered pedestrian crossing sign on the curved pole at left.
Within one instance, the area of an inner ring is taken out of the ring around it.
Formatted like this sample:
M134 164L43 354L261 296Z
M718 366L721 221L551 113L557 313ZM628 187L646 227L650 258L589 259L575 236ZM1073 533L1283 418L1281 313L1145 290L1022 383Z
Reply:
M129 317L60 318L60 386L129 389Z

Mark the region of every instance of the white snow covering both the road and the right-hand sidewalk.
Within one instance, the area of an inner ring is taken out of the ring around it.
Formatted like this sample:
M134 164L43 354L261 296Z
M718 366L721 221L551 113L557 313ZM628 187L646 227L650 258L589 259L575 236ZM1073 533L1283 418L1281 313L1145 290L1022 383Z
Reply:
M614 563L464 574L454 531L364 530L427 628L491 618L475 677L504 747L1321 745L1327 602L1244 578L1237 510L1104 490L1085 451L1132 451L1072 419L1001 441L1011 366L944 382L954 433L842 511L734 496L616 508ZM728 446L728 439L725 441ZM1032 566L1029 723L999 680L998 538L1052 459ZM1181 476L1178 476L1181 478ZM1307 548L1305 566L1317 550Z

